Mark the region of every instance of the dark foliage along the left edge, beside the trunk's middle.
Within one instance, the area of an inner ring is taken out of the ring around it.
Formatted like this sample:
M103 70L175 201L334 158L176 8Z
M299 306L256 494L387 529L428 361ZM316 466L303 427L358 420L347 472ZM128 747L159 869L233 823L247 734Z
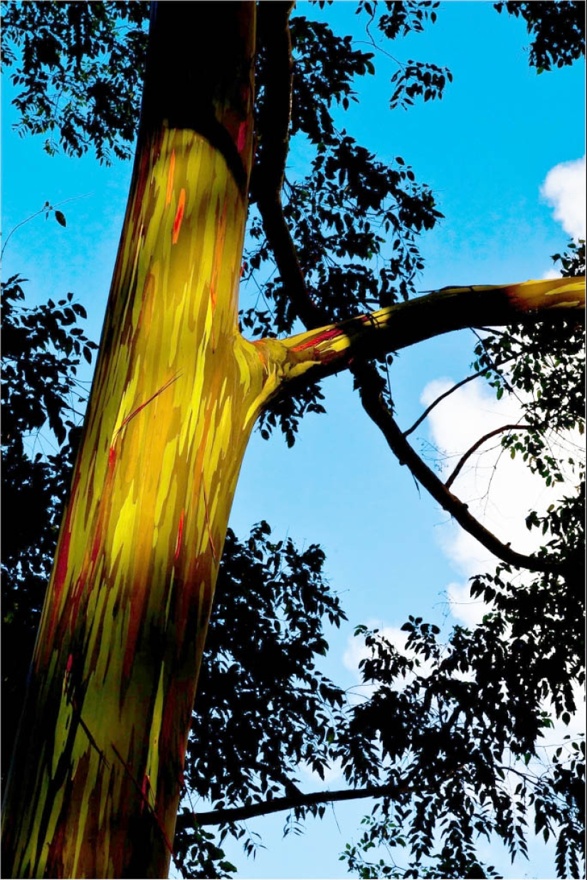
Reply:
M85 310L73 294L26 308L24 282L2 285L3 773L79 442L77 366L97 348L77 326Z

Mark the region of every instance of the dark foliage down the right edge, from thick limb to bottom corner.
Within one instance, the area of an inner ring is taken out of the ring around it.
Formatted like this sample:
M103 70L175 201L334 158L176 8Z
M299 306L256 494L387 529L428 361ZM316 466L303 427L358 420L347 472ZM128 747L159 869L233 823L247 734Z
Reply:
M583 274L584 243L554 259L563 275ZM500 838L512 858L525 855L529 821L557 841L558 876L583 876L584 739L541 745L554 719L569 724L585 682L584 466L581 451L569 456L556 444L562 432L583 435L582 351L582 328L566 324L511 327L476 349L475 366L493 375L497 396L525 393L532 430L505 436L504 448L521 453L547 486L571 469L576 492L526 519L543 536L540 555L565 561L566 573L520 576L501 565L473 578L471 598L490 609L481 625L455 627L442 644L437 627L412 617L402 627L407 656L359 627L371 647L363 679L377 689L350 722L345 773L355 784L382 781L386 760L385 777L404 790L376 804L361 840L341 856L358 876L497 876L477 841ZM507 377L492 371L511 356ZM369 861L377 847L399 848L391 860L383 852Z

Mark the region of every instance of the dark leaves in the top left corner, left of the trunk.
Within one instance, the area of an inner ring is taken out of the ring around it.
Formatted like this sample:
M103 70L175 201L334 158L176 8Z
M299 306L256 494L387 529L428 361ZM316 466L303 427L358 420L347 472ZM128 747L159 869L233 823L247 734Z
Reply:
M3 63L14 66L18 134L45 150L130 158L143 89L149 4L3 3Z

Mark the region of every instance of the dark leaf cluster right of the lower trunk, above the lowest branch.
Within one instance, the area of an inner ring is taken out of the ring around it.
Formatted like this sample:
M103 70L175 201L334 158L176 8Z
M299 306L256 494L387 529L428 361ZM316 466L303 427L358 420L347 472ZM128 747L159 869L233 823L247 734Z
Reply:
M324 560L317 545L276 541L265 522L243 542L229 529L187 749L190 799L222 809L297 794L303 762L324 778L345 699L316 661L327 653L323 620L346 620ZM220 844L229 832L253 847L234 824ZM191 833L176 842L201 865L202 842Z

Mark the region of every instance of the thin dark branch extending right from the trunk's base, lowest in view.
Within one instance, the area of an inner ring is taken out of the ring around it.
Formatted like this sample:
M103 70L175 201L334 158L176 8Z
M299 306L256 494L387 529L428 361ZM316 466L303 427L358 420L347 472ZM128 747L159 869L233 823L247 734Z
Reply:
M366 788L342 789L339 791L318 791L312 795L294 797L275 797L270 801L249 803L243 807L227 807L224 810L209 810L205 813L180 813L177 818L177 830L193 828L194 825L223 825L225 822L242 822L255 816L267 816L282 810L294 810L296 807L312 807L319 803L335 803L336 801L355 801L363 797L380 797L398 795L407 791L407 786L369 785Z

